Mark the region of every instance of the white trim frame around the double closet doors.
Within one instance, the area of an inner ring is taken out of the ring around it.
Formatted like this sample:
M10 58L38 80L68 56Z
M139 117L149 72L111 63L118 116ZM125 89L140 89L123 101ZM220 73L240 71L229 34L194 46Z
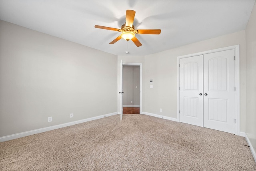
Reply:
M180 59L189 58L192 56L210 54L214 52L221 52L225 50L235 50L235 135L240 135L240 45L228 46L225 48L218 48L214 50L208 50L204 52L198 52L195 54L188 54L177 57L177 119L180 122Z

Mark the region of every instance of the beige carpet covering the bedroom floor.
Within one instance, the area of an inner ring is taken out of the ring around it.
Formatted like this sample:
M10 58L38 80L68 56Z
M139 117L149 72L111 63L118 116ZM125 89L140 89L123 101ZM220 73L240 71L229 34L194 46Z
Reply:
M244 137L148 115L114 115L0 143L0 170L246 170Z

